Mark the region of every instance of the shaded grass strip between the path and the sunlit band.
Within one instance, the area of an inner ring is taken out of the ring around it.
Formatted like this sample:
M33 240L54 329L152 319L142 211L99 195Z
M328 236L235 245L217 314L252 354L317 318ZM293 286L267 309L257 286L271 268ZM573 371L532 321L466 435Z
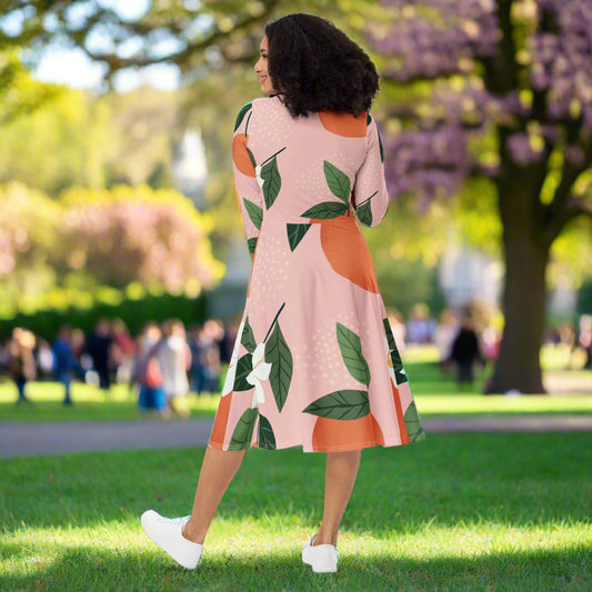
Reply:
M189 513L203 449L122 451L1 461L6 530L138 523L154 508ZM220 506L223 520L292 516L315 528L323 454L253 450ZM432 434L362 455L344 528L384 536L427 523L524 526L590 520L592 433Z

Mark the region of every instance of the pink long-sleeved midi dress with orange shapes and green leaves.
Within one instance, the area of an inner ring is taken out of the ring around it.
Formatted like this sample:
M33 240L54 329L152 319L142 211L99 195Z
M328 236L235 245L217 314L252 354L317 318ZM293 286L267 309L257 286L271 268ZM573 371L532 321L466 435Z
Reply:
M239 112L234 183L253 258L209 444L339 452L424 438L360 231L388 207L369 113Z

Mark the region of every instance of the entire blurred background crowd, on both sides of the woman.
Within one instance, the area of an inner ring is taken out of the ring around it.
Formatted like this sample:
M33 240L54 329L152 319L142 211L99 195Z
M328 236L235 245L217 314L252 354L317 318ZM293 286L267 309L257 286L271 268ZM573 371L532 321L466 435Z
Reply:
M407 344L434 345L442 371L454 371L460 388L472 387L475 367L498 357L501 330L482 305L444 310L437 321L428 307L418 304L407 321L394 310L389 321L400 350ZM96 384L106 394L117 382L129 385L142 411L183 415L188 408L179 403L189 392L220 392L221 369L230 361L238 329L238 321L224 327L210 319L185 330L171 319L149 321L140 335L132 337L123 321L99 319L87 334L64 324L50 342L17 328L7 343L0 343L0 375L14 382L18 404L30 402L27 384L33 380L61 383L64 405L73 404L72 381ZM583 349L584 368L592 369L592 315L582 315L578 328L551 328L545 341L568 348L570 360L572 352Z

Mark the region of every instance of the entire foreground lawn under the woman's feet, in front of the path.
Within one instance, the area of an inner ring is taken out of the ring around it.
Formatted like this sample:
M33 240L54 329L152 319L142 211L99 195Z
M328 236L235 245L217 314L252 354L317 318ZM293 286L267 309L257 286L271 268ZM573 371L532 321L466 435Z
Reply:
M592 589L592 434L432 434L364 451L340 571L300 561L321 518L323 455L252 450L202 563L150 543L140 513L190 509L203 450L0 462L0 589Z

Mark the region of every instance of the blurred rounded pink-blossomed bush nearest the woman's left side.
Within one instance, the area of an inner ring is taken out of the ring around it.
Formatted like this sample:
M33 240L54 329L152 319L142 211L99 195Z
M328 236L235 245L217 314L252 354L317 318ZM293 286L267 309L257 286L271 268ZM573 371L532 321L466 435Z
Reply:
M68 267L108 285L140 282L181 293L213 288L223 274L211 252L210 217L174 190L72 189L63 205Z

